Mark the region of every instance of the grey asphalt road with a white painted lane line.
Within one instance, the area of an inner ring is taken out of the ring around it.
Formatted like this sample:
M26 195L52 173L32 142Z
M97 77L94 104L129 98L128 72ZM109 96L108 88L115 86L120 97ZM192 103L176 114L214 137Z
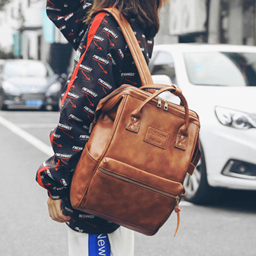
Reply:
M0 111L1 256L68 255L66 225L49 218L46 191L35 182L38 166L52 153L49 132L58 116ZM255 196L227 191L214 205L182 202L177 237L173 213L155 236L135 234L135 256L255 256Z

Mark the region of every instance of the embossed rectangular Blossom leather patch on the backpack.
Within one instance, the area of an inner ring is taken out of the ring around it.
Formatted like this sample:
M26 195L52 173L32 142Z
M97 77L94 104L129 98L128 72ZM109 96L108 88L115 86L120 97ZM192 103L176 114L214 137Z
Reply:
M169 133L161 131L152 126L148 126L144 141L150 143L151 145L165 149L168 139Z

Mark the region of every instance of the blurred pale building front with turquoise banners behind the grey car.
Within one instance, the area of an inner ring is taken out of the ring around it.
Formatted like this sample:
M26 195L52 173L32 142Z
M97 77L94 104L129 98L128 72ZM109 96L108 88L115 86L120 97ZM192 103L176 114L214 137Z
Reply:
M11 0L0 12L0 50L47 61L58 74L66 73L71 47L47 18L45 5L45 0Z

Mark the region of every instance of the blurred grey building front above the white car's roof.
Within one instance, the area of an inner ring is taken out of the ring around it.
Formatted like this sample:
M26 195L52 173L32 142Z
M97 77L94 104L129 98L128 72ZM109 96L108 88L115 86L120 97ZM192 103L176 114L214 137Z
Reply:
M255 9L256 0L169 0L157 43L256 45Z

